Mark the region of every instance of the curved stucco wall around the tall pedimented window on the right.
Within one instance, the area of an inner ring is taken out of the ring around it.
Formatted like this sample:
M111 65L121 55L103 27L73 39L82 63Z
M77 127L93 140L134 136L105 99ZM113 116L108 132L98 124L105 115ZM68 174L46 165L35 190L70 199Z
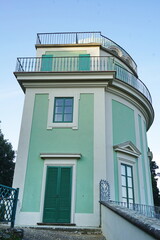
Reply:
M122 98L109 94L112 102L112 149L117 144L131 141L141 152L139 157L131 157L129 155L120 154L113 150L114 161L114 187L111 182L111 188L115 193L111 192L111 199L122 201L121 199L121 177L119 176L120 166L119 159L124 159L126 163L133 164L133 180L135 202L141 204L153 205L151 175L149 168L149 159L147 156L147 130L146 122L142 112L131 103ZM107 118L107 117L106 117ZM111 122L111 120L110 120ZM111 169L110 169L111 171ZM110 178L111 179L111 178ZM108 180L108 179L107 179ZM113 196L113 197L112 197Z

